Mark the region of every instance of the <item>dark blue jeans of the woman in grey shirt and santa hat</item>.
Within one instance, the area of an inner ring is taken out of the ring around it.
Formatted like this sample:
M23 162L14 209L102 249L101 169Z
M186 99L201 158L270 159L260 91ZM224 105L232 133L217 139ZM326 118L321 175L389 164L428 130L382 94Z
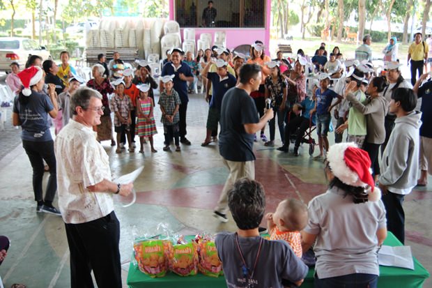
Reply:
M332 278L318 279L315 275L315 288L376 288L378 275L355 273Z

